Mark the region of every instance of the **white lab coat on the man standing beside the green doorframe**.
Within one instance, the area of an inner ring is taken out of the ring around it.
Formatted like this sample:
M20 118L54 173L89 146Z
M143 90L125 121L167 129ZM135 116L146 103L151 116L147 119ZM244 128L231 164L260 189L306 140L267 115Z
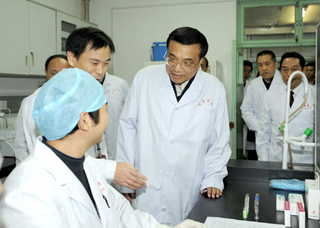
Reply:
M265 83L262 80L262 76L259 76L251 81L240 107L242 119L245 120L247 128L255 132L259 128L263 98L265 98L265 93L267 93L267 88L265 88ZM276 88L281 84L284 84L281 73L276 70L269 89L272 90L272 88Z

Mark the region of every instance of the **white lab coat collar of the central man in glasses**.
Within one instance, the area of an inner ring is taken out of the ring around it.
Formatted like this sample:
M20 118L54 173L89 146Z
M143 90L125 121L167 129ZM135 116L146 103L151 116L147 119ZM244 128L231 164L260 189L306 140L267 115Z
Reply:
M190 88L184 93L181 100L177 102L176 95L174 93L174 88L172 88L171 80L169 74L166 72L166 66L164 65L161 68L161 77L159 78L160 84L160 93L166 99L170 100L171 103L176 105L176 108L186 105L188 103L193 102L193 100L198 99L199 93L201 93L201 89L203 87L203 73L201 68L198 69L196 73L196 78L194 78L193 83L191 84Z

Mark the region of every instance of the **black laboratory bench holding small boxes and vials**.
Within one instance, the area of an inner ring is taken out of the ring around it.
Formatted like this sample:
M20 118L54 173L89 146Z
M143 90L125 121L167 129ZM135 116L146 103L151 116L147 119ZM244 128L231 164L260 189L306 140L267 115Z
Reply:
M284 212L276 210L276 195L284 195L288 200L289 193L301 194L286 190L274 190L269 187L272 179L314 179L311 165L306 170L282 170L281 162L260 162L253 160L230 160L228 176L225 177L223 196L209 199L201 195L200 199L188 214L188 219L205 222L207 217L223 217L247 221L284 224ZM247 219L242 218L245 194L250 195L250 207ZM259 219L255 220L254 199L259 194ZM306 199L304 197L304 204ZM298 217L291 216L291 227L298 227ZM306 227L319 227L319 220L308 219Z

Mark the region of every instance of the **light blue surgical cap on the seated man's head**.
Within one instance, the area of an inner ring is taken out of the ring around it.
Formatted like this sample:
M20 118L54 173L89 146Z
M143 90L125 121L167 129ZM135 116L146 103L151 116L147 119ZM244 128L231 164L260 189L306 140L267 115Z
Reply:
M105 103L102 85L94 77L78 68L68 68L42 86L32 115L47 140L58 140L78 125L82 112L92 113Z

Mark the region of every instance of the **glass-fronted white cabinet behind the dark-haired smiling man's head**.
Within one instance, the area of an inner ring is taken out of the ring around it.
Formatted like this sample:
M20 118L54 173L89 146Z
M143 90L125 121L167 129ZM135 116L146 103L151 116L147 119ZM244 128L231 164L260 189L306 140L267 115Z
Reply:
M65 55L65 42L67 41L69 34L77 28L88 26L92 26L95 28L97 27L96 24L92 24L88 21L83 21L76 18L75 16L57 12L57 53Z

